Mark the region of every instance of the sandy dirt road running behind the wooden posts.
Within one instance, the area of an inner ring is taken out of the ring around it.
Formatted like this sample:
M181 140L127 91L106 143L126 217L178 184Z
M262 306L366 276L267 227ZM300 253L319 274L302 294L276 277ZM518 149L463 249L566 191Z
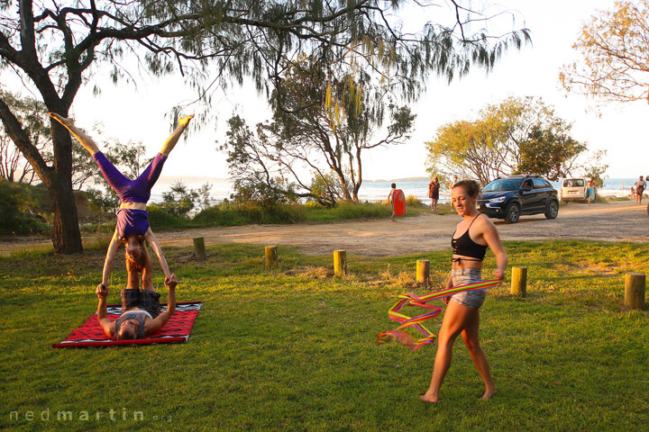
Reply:
M255 243L293 245L306 254L325 255L334 249L348 254L388 257L424 253L450 247L457 214L429 213L413 218L353 220L324 224L246 225L227 228L198 228L160 231L162 246L190 246L192 238L204 237L206 244ZM505 240L588 238L608 241L649 241L646 207L633 202L570 204L562 206L559 217L523 216L513 225L494 220ZM0 242L0 254L16 248L48 245L47 238L22 238Z

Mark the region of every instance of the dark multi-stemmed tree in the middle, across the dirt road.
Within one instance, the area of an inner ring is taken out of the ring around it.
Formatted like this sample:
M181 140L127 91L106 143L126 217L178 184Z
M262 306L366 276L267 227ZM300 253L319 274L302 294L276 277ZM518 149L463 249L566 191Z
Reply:
M288 94L273 120L257 125L257 137L230 139L223 146L229 150L231 175L235 181L247 177L258 188L327 206L358 202L362 154L404 142L415 116L406 106L391 103L363 71L352 76L303 58L282 79ZM390 124L375 138L385 116ZM232 136L240 132L233 130Z

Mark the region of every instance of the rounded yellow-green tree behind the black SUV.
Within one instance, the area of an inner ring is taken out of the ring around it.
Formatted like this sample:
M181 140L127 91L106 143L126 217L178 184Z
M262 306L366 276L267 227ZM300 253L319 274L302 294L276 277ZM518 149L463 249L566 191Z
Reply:
M587 149L570 136L571 124L532 97L488 105L476 121L443 125L426 143L430 173L476 178L531 173L551 180L568 176Z

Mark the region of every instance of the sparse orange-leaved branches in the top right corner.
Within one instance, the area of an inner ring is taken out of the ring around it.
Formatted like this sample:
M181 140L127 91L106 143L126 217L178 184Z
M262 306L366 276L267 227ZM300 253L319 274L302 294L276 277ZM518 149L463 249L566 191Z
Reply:
M580 60L560 73L569 92L608 102L649 102L649 0L617 1L584 24Z

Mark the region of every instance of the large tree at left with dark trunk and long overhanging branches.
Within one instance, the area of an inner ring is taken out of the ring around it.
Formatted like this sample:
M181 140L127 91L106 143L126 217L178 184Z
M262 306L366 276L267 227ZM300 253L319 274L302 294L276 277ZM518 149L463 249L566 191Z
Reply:
M47 0L4 2L0 4L0 70L22 79L48 111L63 116L69 115L81 85L94 84L100 91L100 85L92 82L100 68L110 70L114 82L134 79L121 66L125 57L137 60L153 76L179 72L197 89L205 106L215 84L242 84L244 76L251 76L267 92L271 87L281 89L284 68L300 53L315 54L328 64L364 62L414 97L421 88L417 83L428 72L451 77L467 73L471 64L489 68L503 49L519 47L529 39L525 29L498 38L486 31L469 33L469 23L489 17L455 0L448 1L457 13L450 15L450 22L428 23L413 34L391 18L404 3L90 0L61 7ZM435 2L416 4L425 7ZM173 112L175 120L179 111L180 107ZM205 120L206 113L198 117ZM53 161L49 164L4 98L0 98L0 120L50 192L54 250L81 251L68 131L51 124Z

